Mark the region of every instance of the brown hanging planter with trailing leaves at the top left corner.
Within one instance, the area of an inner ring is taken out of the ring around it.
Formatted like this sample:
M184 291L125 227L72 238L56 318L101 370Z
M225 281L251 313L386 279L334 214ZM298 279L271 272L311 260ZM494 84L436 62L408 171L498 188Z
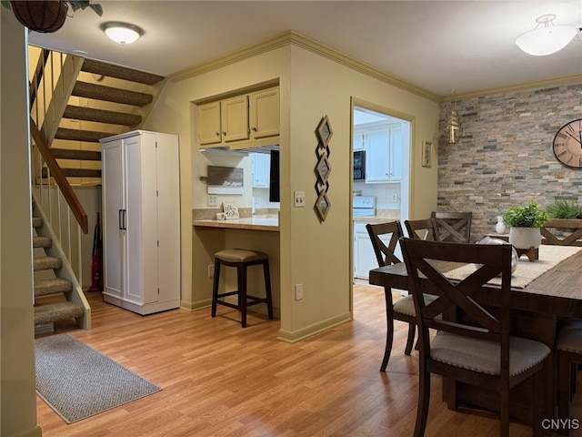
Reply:
M12 9L16 19L30 30L40 33L52 33L65 24L69 7L75 12L89 7L96 15L103 14L101 5L90 0L1 0L6 9Z

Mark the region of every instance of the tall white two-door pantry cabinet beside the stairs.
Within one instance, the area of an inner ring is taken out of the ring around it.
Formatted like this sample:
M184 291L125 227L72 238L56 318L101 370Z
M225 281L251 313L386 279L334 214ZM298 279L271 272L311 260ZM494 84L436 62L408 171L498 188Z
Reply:
M178 137L101 139L105 302L139 314L180 306Z

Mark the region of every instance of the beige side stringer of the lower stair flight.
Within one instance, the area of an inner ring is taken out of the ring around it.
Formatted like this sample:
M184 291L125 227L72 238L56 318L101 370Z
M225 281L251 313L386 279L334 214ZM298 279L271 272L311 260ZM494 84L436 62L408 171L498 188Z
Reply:
M62 269L58 271L58 277L63 279L68 279L73 284L73 290L70 293L64 293L66 300L78 303L83 307L85 310L83 316L78 317L75 319L77 325L85 330L91 329L91 307L89 306L89 302L85 298L85 294L83 293L83 289L81 288L81 284L79 284L78 279L75 275L75 270L71 267L71 264L68 261L68 258L65 254L65 250L63 250L61 246L61 241L56 236L56 233L48 219L48 216L45 214L45 210L41 206L41 202L38 201L36 197L35 188L33 187L32 190L33 194L33 201L35 202L35 209L36 213L43 219L44 225L41 229L41 233L39 235L50 237L53 239L53 245L50 248L46 248L46 254L51 257L60 258L63 262Z

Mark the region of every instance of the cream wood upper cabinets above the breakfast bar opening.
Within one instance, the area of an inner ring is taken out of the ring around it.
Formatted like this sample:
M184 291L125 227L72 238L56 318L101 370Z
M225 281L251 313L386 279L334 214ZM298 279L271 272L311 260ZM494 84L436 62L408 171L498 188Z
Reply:
M198 146L246 148L279 141L279 88L198 105Z

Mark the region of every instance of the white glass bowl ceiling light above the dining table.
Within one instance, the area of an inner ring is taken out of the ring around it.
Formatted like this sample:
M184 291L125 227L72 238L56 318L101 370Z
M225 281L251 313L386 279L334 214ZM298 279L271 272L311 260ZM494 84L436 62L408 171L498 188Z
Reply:
M578 29L573 25L554 25L556 15L538 16L534 30L516 39L516 44L528 55L546 56L556 53L576 36Z

